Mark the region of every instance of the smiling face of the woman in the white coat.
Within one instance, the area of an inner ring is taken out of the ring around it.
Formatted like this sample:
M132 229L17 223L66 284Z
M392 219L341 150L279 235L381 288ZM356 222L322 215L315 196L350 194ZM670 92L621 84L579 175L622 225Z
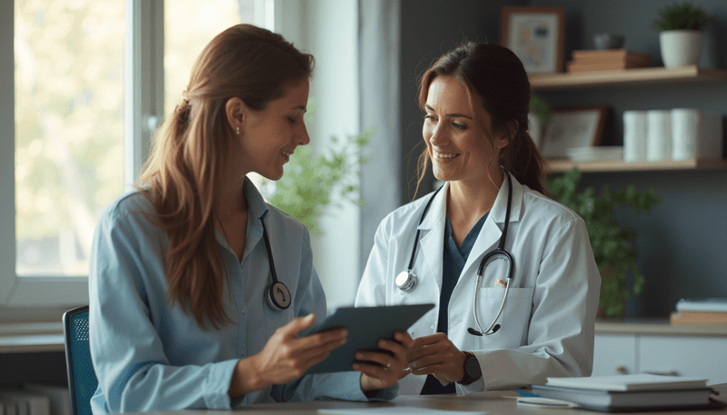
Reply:
M490 114L476 96L472 108L469 96L465 84L452 76L437 76L429 85L422 134L439 180L483 183L490 181L488 168L499 171L497 161L507 140L502 135L491 139Z

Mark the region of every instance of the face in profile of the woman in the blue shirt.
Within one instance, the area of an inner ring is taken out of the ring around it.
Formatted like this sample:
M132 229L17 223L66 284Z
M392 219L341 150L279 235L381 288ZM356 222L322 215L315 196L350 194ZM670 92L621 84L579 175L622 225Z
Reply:
M243 170L237 172L238 177L250 172L270 180L283 177L283 165L295 148L311 142L303 121L308 90L308 79L288 84L285 94L261 111L254 111L239 98L228 101L228 107L233 106L227 110L233 114L232 129L240 127L236 136L240 152L232 162Z

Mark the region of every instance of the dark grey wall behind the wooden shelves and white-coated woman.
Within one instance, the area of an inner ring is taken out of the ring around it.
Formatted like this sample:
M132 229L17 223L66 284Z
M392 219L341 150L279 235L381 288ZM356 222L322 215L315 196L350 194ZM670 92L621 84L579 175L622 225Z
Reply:
M662 65L658 33L652 28L656 11L673 2L658 0L532 0L529 2L403 1L402 116L403 201L411 200L416 156L422 142L421 114L415 104L415 77L432 59L464 36L498 41L500 6L504 4L563 5L566 9L565 57L574 49L593 48L593 35L625 35L625 47L650 54L652 65ZM712 23L705 30L700 64L727 69L727 3L701 0ZM444 6L446 4L446 6ZM407 17L408 16L408 17ZM463 17L466 16L466 17ZM694 107L727 114L727 84L675 84L632 88L600 88L541 94L553 106L609 104L612 143L621 144L624 110ZM408 163L408 165L407 165ZM431 174L424 191L431 189ZM663 202L648 214L615 212L615 221L636 232L637 266L646 278L644 291L627 302L627 317L667 317L682 297L727 297L727 171L653 173L585 173L582 187L619 188L634 184L654 188ZM407 197L407 194L409 197Z

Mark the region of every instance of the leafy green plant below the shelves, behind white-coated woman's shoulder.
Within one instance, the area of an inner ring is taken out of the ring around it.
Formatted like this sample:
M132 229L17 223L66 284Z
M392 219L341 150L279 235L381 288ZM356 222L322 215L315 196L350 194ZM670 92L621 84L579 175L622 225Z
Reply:
M603 186L601 193L589 186L578 193L580 182L581 173L574 168L548 180L545 185L554 200L571 208L585 222L593 256L601 272L599 315L621 318L624 301L631 292L642 291L643 275L636 268L634 232L628 226L613 222L611 212L622 207L632 207L635 213L649 212L662 202L662 198L654 195L653 189L638 193L632 185L618 191ZM626 285L626 272L632 273L632 286Z

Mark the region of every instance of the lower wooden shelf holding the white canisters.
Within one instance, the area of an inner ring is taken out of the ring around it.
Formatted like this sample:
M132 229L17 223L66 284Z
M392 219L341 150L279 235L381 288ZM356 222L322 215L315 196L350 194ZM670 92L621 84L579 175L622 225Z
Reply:
M568 159L548 160L548 173L564 173L578 167L581 172L648 172L660 170L707 170L727 169L727 160L683 160L674 162L633 162L622 161L575 163Z

